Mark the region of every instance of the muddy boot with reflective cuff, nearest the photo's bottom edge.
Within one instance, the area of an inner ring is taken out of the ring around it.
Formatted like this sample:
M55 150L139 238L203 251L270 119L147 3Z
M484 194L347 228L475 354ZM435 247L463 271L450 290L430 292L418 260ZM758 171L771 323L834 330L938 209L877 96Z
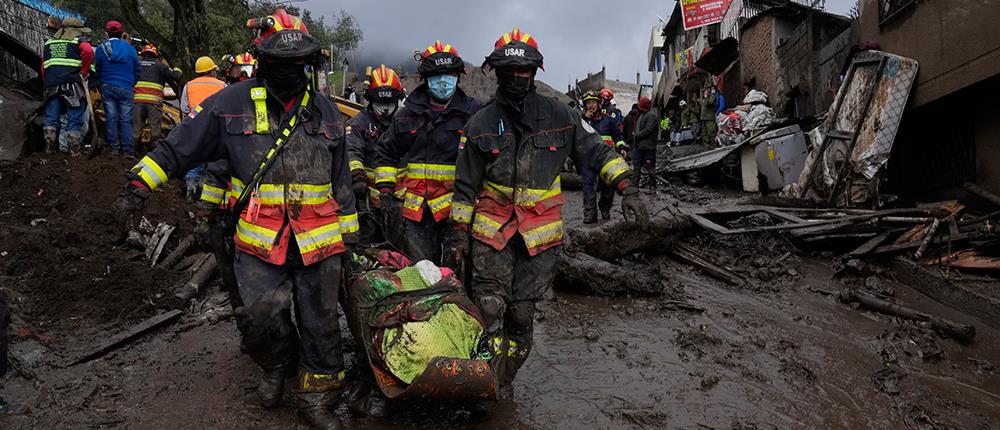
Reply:
M299 370L295 406L309 426L315 429L341 430L340 418L333 413L344 392L344 373L326 375Z

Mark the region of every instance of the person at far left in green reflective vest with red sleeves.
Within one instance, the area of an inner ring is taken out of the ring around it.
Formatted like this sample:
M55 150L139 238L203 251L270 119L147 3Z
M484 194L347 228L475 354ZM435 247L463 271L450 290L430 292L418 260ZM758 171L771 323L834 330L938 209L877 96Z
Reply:
M83 146L83 120L87 95L83 80L94 70L94 48L81 40L90 34L78 18L64 18L62 27L45 42L42 52L42 81L45 85L45 125L42 128L46 152L56 151L59 117L66 114L67 148L61 152L77 155Z

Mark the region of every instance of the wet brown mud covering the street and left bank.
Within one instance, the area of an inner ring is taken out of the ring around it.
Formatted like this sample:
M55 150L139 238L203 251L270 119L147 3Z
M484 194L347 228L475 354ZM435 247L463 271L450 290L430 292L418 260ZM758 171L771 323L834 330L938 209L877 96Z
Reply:
M69 169L72 163L84 167ZM110 230L110 201L128 164L32 157L0 169L0 248L7 252L0 287L11 298L14 349L23 358L0 380L0 396L11 403L0 428L301 428L290 407L255 405L258 370L240 353L231 320L192 324L211 300L103 358L61 367L162 311L158 297L176 281L130 261L135 252ZM71 184L54 185L66 179ZM38 189L47 191L35 196ZM689 187L673 193L698 205L736 198ZM568 199L566 215L576 225L579 195ZM168 188L149 214L189 228L184 208ZM41 217L48 221L32 227ZM536 347L512 400L397 404L386 419L341 407L345 422L372 429L1000 428L998 330L891 273L835 277L831 258L799 254L774 237L696 233L684 241L747 284L641 257L664 275L667 293L558 291L541 305ZM977 341L960 345L825 294L848 285L975 324Z

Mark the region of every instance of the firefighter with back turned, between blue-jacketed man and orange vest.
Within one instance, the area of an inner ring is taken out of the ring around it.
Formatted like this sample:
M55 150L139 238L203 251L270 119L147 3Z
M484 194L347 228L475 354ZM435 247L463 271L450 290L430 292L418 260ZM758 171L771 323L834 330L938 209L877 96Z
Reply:
M171 69L160 60L160 51L148 44L139 54L139 81L135 83L132 108L132 141L135 150L142 147L142 129L149 123L149 141L160 140L163 121L163 86L181 78L181 69Z

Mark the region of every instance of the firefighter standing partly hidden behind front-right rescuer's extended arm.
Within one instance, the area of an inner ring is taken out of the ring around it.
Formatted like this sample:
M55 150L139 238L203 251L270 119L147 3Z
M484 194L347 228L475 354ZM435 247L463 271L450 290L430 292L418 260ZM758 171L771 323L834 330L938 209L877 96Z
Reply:
M619 151L626 153L628 146L622 137L619 122L615 121L611 115L601 108L601 97L588 91L583 95L583 119L587 121L597 134L601 135L604 143ZM598 179L598 172L581 166L579 169L583 181L583 223L593 224L597 222L597 209L600 207L601 219L607 221L611 219L611 206L615 201L615 190L601 183ZM600 202L597 201L597 193L601 194Z

